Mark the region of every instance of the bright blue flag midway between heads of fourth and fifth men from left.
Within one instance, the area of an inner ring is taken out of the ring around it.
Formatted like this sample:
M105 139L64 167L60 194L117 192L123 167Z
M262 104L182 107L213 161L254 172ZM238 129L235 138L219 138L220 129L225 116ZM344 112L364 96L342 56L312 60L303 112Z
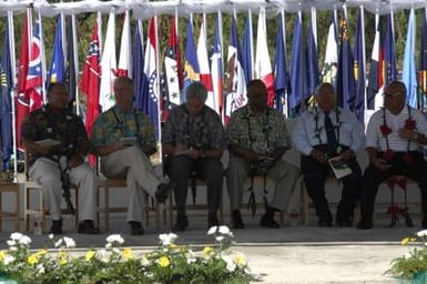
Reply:
M291 54L291 95L288 97L288 105L291 109L298 106L306 94L306 70L305 70L305 50L303 23L301 12L295 18L294 37L292 39Z

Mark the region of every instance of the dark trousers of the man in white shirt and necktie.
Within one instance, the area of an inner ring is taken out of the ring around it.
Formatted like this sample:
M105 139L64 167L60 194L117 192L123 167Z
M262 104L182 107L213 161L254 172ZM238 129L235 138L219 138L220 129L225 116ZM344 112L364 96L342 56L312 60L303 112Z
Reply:
M342 179L344 187L336 216L339 221L353 222L354 209L360 192L362 171L356 159L352 159L347 163L353 170L353 173ZM311 156L303 155L301 170L304 175L305 186L309 197L313 200L319 221L332 222L328 201L325 196L326 178L332 174L329 165L322 164Z

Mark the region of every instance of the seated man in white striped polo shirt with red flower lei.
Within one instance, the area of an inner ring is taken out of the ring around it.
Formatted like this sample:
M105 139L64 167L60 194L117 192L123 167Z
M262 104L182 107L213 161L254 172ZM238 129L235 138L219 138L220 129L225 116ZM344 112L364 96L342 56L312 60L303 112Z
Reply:
M427 144L427 122L421 112L406 105L406 87L394 81L384 91L384 109L375 112L366 129L369 166L363 178L362 220L357 229L373 227L375 196L379 184L399 174L418 182L421 190L423 227L427 229L427 163L421 145Z

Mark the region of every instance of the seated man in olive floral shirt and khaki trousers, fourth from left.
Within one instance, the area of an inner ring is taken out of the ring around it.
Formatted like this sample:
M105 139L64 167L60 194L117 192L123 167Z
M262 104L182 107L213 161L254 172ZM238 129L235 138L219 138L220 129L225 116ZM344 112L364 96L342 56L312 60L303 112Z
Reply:
M250 175L258 174L275 181L261 225L278 227L275 211L286 211L298 182L298 170L282 160L291 148L285 119L267 106L267 89L263 81L247 84L248 104L233 112L228 126L230 164L226 172L233 229L244 229L241 215L243 186Z

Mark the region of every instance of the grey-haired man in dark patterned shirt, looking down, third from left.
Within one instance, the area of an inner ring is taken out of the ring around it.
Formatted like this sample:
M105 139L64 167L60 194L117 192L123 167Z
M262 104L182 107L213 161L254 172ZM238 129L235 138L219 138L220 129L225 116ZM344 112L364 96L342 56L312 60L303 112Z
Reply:
M174 231L184 231L189 221L185 213L189 178L196 172L206 181L209 226L218 225L217 210L223 189L224 129L220 115L207 105L206 88L193 82L185 91L186 103L171 111L162 132L166 171L175 187L177 219Z

